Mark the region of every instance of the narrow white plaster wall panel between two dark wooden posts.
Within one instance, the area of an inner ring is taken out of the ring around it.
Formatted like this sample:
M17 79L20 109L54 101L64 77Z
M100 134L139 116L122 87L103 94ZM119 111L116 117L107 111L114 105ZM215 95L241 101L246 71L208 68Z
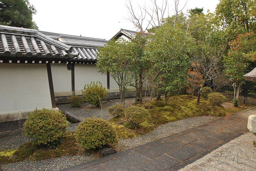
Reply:
M71 70L68 70L68 66L65 63L51 63L51 69L54 92L72 91Z

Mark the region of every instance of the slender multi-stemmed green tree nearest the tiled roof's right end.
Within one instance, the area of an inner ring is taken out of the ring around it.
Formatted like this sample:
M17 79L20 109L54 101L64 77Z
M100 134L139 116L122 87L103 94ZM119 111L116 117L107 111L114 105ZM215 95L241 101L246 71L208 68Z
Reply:
M126 88L134 78L131 72L131 67L134 66L132 43L123 38L109 41L105 47L99 48L97 55L98 72L104 74L109 72L109 75L119 86L121 102L123 103Z

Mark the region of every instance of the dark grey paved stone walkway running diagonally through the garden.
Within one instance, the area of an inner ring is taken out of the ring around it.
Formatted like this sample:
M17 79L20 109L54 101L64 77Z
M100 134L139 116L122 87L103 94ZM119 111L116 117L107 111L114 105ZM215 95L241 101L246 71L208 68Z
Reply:
M169 137L118 152L62 171L179 170L248 132L256 107L237 112Z

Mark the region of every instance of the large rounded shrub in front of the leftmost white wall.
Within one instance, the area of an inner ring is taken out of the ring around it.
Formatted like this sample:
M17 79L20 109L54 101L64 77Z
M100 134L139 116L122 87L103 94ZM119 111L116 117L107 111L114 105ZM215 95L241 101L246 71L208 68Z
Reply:
M25 135L33 138L34 144L49 144L58 141L66 132L68 123L60 110L34 110L28 113L28 119L23 125Z

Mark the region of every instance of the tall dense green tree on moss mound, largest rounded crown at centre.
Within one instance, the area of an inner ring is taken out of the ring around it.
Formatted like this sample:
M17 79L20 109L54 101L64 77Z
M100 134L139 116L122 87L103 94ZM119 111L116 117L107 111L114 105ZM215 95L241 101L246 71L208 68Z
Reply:
M187 54L192 43L182 29L169 24L150 35L145 54L152 71L158 73L156 80L161 87L159 90L165 94L165 104L171 95L179 94L187 84L190 65Z

